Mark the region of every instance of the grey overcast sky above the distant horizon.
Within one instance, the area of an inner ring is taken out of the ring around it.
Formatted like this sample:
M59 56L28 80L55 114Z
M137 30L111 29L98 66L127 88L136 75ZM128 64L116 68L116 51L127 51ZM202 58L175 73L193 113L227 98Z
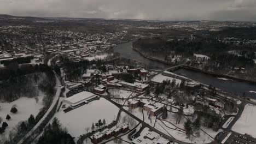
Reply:
M106 19L256 21L256 0L0 0L0 14Z

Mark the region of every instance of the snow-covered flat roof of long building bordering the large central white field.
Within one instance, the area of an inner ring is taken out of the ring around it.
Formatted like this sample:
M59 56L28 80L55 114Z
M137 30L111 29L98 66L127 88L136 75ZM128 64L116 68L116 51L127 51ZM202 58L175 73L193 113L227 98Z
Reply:
M81 100L88 99L88 98L90 98L90 97L92 97L94 95L95 94L93 94L93 93L83 91L83 92L74 94L72 97L66 98L65 100L74 104L74 103L77 103L77 102L79 102Z

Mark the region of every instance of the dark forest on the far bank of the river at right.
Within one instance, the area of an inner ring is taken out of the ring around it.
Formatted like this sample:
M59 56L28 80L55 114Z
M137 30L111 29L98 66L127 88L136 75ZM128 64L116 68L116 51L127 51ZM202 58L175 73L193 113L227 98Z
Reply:
M219 63L220 67L253 67L253 59L256 58L256 49L251 45L225 44L213 38L171 41L160 38L138 39L133 47L152 55L164 55L166 58L173 55L193 58L194 53L200 53L209 56L209 61ZM230 50L241 50L245 55L236 56L228 53Z

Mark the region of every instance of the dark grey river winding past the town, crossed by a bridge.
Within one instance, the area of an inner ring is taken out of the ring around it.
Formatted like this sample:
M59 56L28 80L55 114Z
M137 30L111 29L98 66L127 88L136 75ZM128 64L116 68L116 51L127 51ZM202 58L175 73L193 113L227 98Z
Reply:
M114 52L120 53L121 57L125 57L128 59L136 59L138 62L147 63L152 69L164 69L170 67L168 64L164 64L161 62L153 61L151 59L145 58L141 56L138 52L132 50L132 41L127 43L119 44L115 47ZM212 85L216 88L222 89L226 92L242 95L243 92L246 93L247 97L251 97L256 99L256 86L251 85L249 82L243 82L238 80L223 80L223 77L215 77L213 75L208 75L205 73L201 73L200 71L193 71L188 69L178 69L173 73L181 74L189 79L193 79L195 81L204 83L206 85ZM218 79L219 78L219 79Z

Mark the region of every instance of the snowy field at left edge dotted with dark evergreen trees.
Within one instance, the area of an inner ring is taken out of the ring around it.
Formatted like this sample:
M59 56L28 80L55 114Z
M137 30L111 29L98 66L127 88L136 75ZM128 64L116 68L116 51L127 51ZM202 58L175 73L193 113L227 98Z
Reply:
M7 136L9 134L9 131L12 130L15 125L17 125L21 121L26 121L31 114L36 117L39 110L43 107L43 97L43 94L40 94L40 96L38 96L38 103L36 103L36 100L34 98L26 97L21 97L11 103L0 103L0 117L3 118L3 122L7 122L7 124L9 125L5 129L4 134ZM18 109L18 112L15 114L10 112L13 105L17 105L16 108ZM10 115L11 117L9 121L5 119L7 115Z

